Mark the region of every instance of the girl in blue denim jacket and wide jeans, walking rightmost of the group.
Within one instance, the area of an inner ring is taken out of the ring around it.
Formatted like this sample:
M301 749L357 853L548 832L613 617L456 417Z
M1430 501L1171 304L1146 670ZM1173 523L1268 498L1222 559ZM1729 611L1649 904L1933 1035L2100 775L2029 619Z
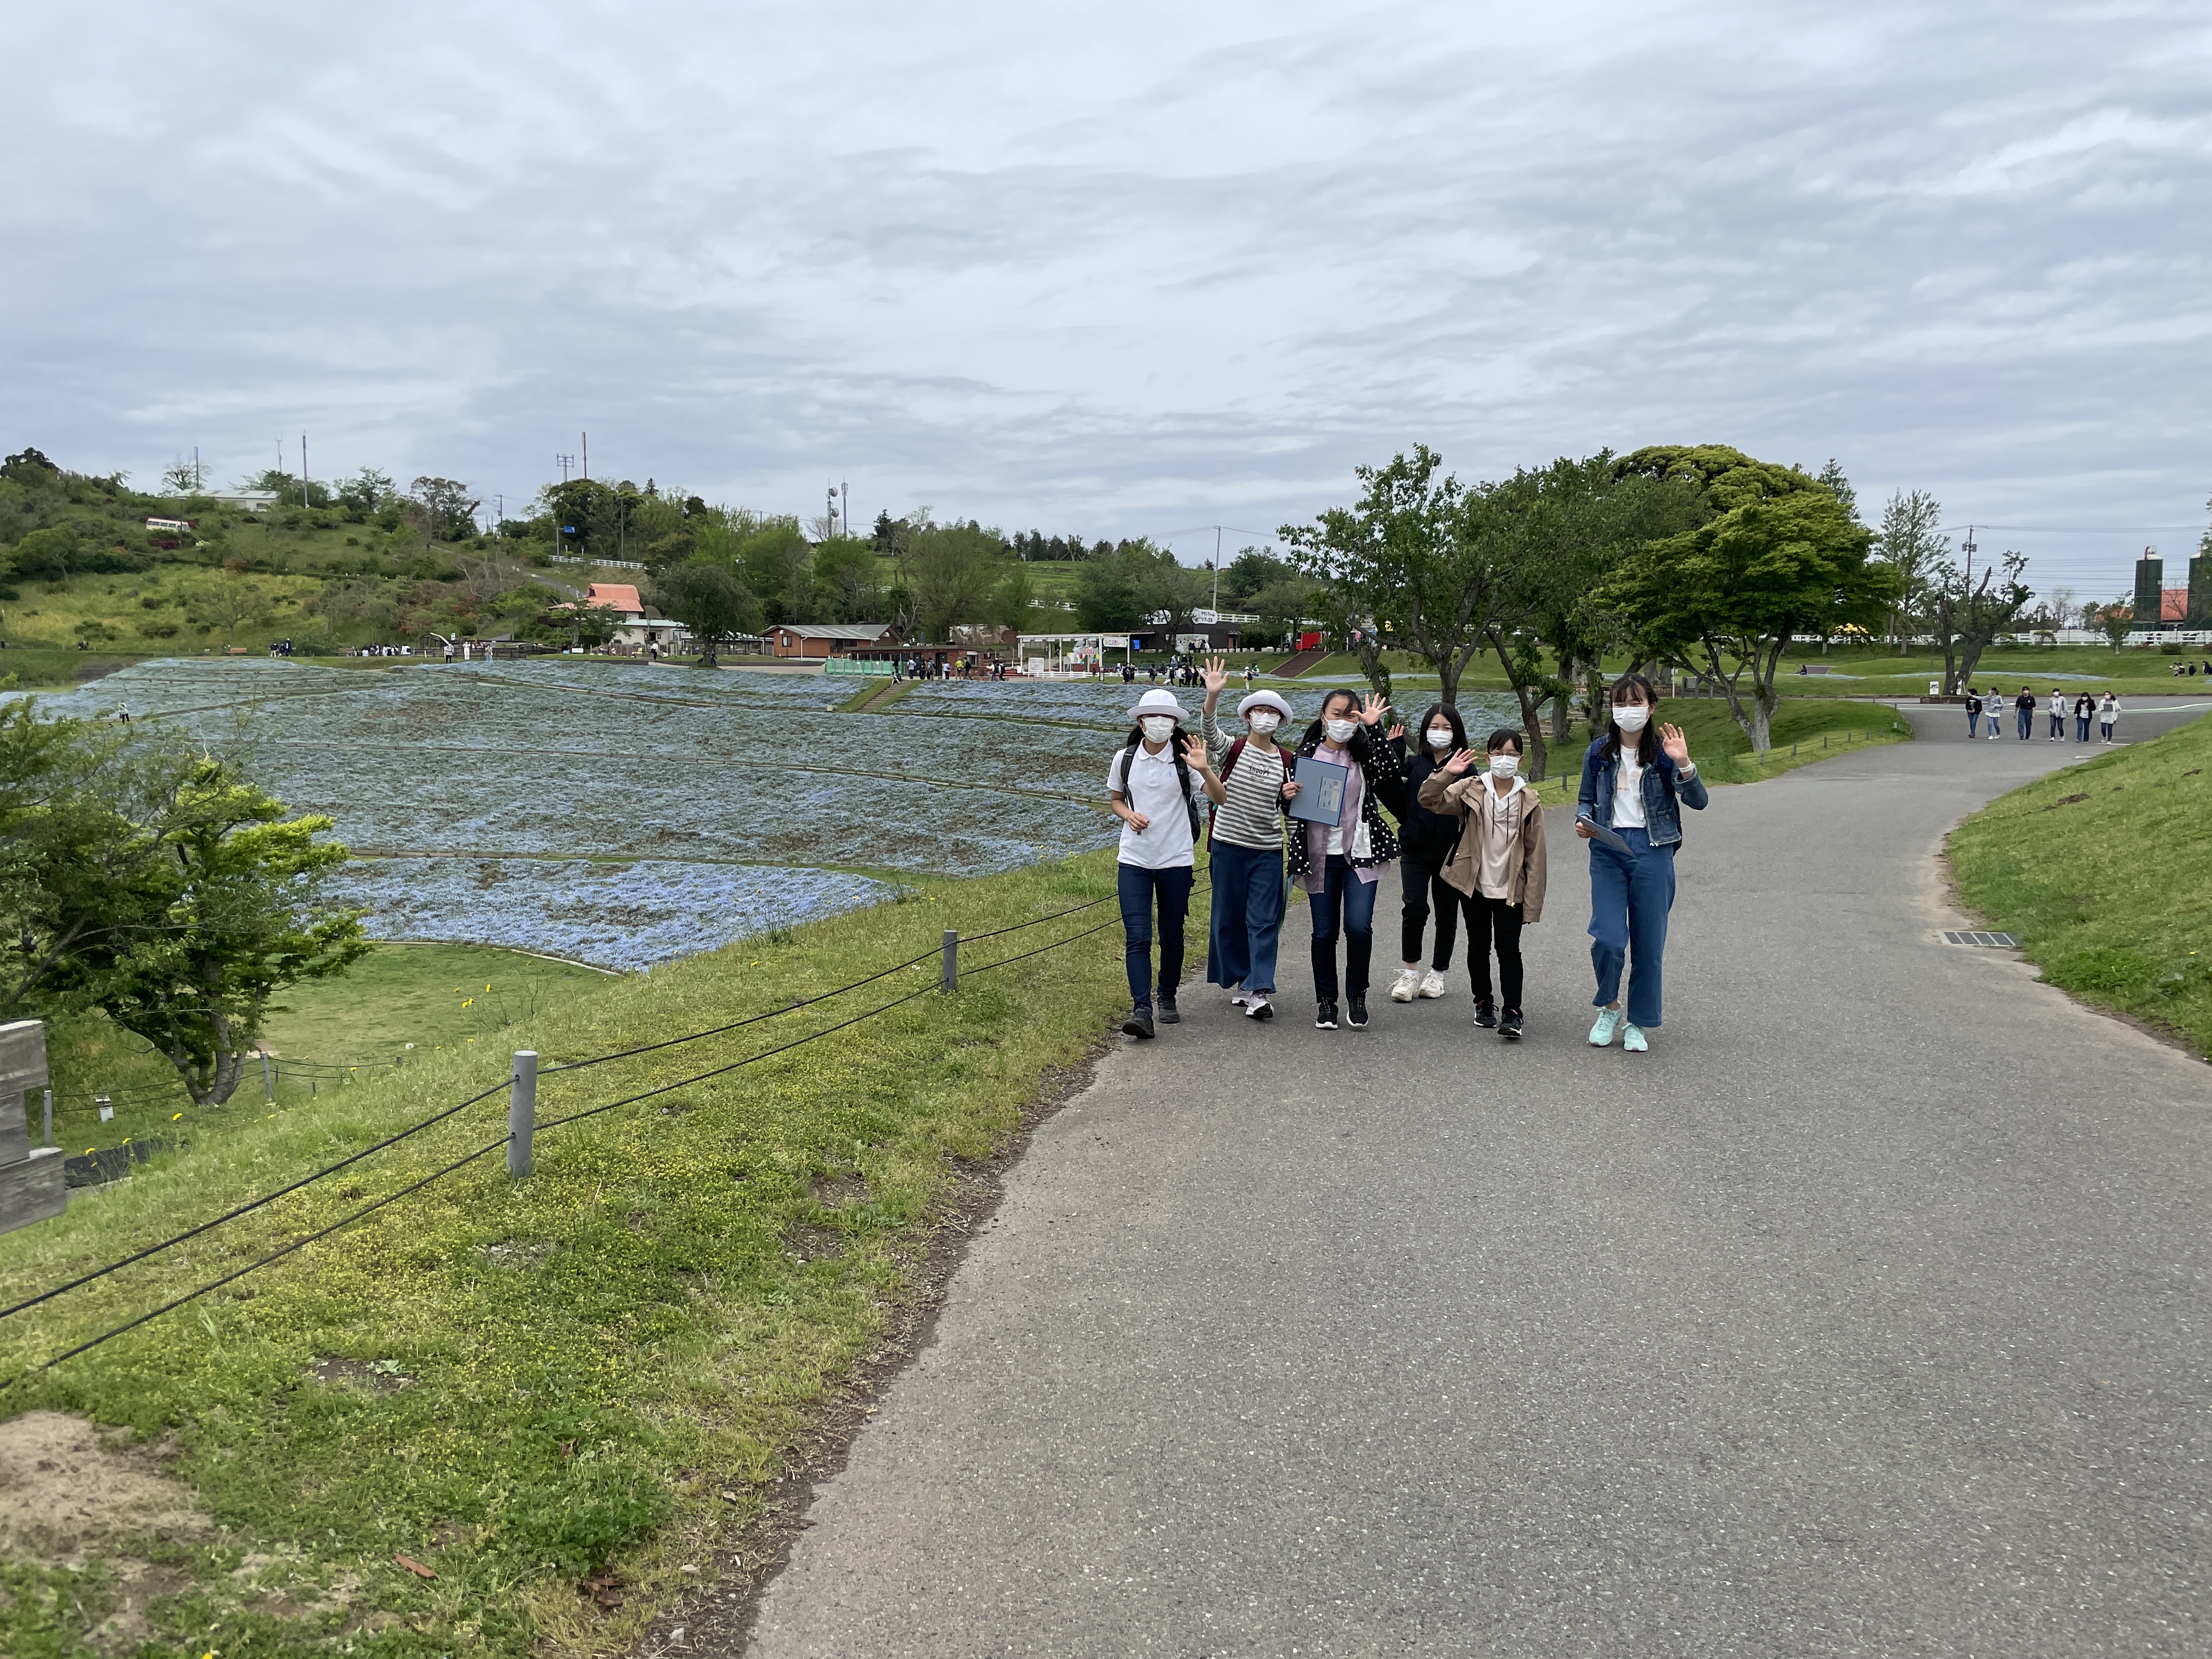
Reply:
M1650 1048L1646 1033L1659 1026L1681 810L1703 812L1710 799L1681 728L1652 726L1657 703L1659 692L1644 675L1613 684L1613 719L1582 757L1575 799L1575 834L1590 843L1590 967L1597 969L1590 1044L1604 1048L1619 1033L1628 1053ZM1599 825L1624 847L1608 845ZM1624 960L1630 962L1626 1018Z

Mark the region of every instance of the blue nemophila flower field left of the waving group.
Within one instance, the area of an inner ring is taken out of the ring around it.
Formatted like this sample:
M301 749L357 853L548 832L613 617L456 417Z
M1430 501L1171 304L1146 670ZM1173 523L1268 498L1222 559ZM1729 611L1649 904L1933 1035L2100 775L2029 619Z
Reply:
M975 876L1113 841L1110 739L1037 719L827 712L847 695L818 677L542 659L387 672L230 659L142 664L40 706L175 721L241 754L292 810L327 812L363 854L345 891L383 936L608 967L889 891L843 869Z

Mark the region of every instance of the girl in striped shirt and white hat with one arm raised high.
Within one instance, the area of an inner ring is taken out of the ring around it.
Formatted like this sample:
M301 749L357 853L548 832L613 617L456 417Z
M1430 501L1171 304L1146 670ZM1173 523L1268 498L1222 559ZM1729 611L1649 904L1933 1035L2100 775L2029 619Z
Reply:
M1223 796L1206 863L1214 887L1206 978L1225 989L1248 1020L1272 1020L1274 962L1290 898L1283 885L1283 803L1296 794L1290 750L1274 739L1290 719L1290 703L1276 692L1252 692L1237 703L1245 737L1230 739L1214 719L1225 684L1228 670L1210 657L1199 730L1219 768Z

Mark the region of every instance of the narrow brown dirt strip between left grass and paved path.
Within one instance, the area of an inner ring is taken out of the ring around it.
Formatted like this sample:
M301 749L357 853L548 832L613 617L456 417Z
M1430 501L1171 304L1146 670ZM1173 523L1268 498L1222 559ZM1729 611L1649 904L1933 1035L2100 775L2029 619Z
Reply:
M805 1517L816 1482L845 1467L852 1440L876 1416L874 1396L885 1389L914 1356L929 1347L945 1305L945 1287L967 1256L969 1239L998 1210L1006 1194L1006 1170L1029 1150L1029 1137L1075 1095L1091 1086L1097 1062L1119 1044L1119 1026L1075 1066L1046 1073L1037 1099L1022 1113L1022 1128L998 1157L978 1164L953 1164L951 1183L929 1212L929 1245L920 1254L898 1252L907 1279L905 1296L889 1307L889 1321L876 1349L854 1365L845 1387L814 1418L812 1431L790 1447L783 1473L763 1491L763 1509L734 1535L717 1542L719 1559L695 1579L684 1597L666 1606L630 1644L630 1659L664 1659L675 1652L745 1652L752 1641L752 1619L761 1608L761 1590L792 1553L792 1542L812 1526ZM816 1197L830 1203L823 1188ZM827 1234L830 1228L796 1228L785 1245L803 1254L803 1234ZM732 1502L737 1491L726 1493ZM701 1557L706 1559L706 1557ZM690 1568L686 1568L690 1571Z

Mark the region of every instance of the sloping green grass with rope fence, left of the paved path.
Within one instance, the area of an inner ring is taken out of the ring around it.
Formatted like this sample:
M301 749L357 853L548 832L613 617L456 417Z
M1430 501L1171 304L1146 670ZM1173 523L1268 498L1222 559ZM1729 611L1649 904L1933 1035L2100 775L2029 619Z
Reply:
M15 1537L0 1555L0 1650L93 1652L84 1632L124 1606L131 1582L159 1588L142 1646L126 1644L139 1655L626 1650L695 1582L686 1564L728 1559L726 1542L774 1500L852 1367L900 1329L958 1166L1002 1148L1046 1073L1079 1062L1126 998L1110 852L916 887L911 902L812 922L787 942L597 980L495 1042L434 1046L420 1064L195 1139L75 1194L60 1221L0 1237L0 1296L13 1301L491 1086L511 1048L551 1066L925 958L757 1029L549 1075L540 1119L918 993L790 1055L546 1130L522 1183L493 1152L53 1371L31 1367L495 1141L504 1099L0 1325L0 1378L22 1378L9 1413L86 1413L159 1440L208 1517L66 1548ZM1095 898L1106 902L971 947L960 991L933 989L940 929ZM978 971L1102 920L1068 949ZM392 971L411 975L422 1018L449 1018L438 998L460 980L434 964ZM296 1018L303 1031L361 1029L343 1009ZM577 1595L602 1566L622 1577L619 1610Z

